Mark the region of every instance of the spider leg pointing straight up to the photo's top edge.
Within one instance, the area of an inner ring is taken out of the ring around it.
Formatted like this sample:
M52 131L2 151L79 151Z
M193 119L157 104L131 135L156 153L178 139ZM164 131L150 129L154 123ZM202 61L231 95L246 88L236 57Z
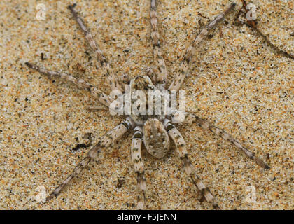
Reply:
M160 34L158 32L156 0L151 0L150 18L153 55L159 70L157 81L159 85L165 87L167 83L167 66L165 65L165 59L162 57L162 50L160 47Z

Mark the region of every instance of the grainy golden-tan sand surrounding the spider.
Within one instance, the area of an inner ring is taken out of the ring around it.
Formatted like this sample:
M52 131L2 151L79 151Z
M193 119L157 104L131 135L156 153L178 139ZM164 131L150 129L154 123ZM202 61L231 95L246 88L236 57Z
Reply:
M182 90L186 111L223 128L267 162L258 167L235 146L195 125L177 125L190 158L222 209L294 209L294 61L277 55L230 13L197 49ZM45 20L37 20L44 3ZM87 91L48 80L25 66L83 77L109 93L99 63L66 6L73 1L0 1L0 209L135 209L136 175L130 162L132 131L100 153L54 200L42 203L92 144L123 118ZM138 76L153 65L149 1L76 1L114 71ZM160 40L172 82L181 56L201 26L230 1L161 1ZM293 1L252 1L258 27L294 54ZM207 18L206 18L207 17ZM42 56L43 55L43 56ZM147 209L211 209L186 175L174 145L162 160L143 150Z

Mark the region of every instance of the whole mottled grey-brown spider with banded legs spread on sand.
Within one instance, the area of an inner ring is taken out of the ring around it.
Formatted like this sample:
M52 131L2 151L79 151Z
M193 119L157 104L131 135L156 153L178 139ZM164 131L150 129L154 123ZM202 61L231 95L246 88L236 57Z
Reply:
M126 87L130 89L130 91L141 90L146 92L146 90L157 90L159 92L163 92L165 90L168 91L178 91L183 83L183 80L186 78L189 68L189 62L195 55L195 50L202 43L204 38L209 34L209 31L216 27L216 25L223 20L225 15L227 15L234 7L236 3L231 3L223 13L220 13L214 17L214 19L209 22L195 37L193 43L187 48L183 59L181 60L181 64L179 66L179 71L174 76L174 80L172 84L167 87L167 67L165 66L165 59L162 57L162 50L160 46L160 35L158 31L158 18L156 11L156 1L151 0L151 8L150 8L150 18L151 18L151 39L153 43L153 55L156 63L156 68L148 68L145 70L144 74L137 76L130 80L130 78L126 75L119 76L116 73L113 73L111 69L111 63L108 59L103 55L102 50L100 50L96 41L92 37L92 34L89 29L87 29L85 22L78 15L75 10L76 4L68 6L73 18L78 22L80 29L83 30L85 34L85 38L90 45L90 48L94 51L99 63L102 66L103 72L107 76L108 83L113 91L123 92L123 97L126 95ZM48 69L44 69L36 64L32 64L30 62L25 63L29 68L34 69L48 78L61 78L71 83L76 84L78 87L88 90L94 97L99 99L99 102L104 104L104 106L108 107L111 111L113 109L111 107L112 103L115 101L114 97L111 95L105 94L97 87L86 83L83 79L78 79L70 74L62 73L58 71L49 71ZM125 103L127 103L125 101ZM131 102L132 104L133 102ZM92 110L99 110L101 108L94 108ZM192 165L192 162L189 158L188 151L186 148L185 140L183 136L176 128L176 123L181 120L181 111L172 111L167 115L156 115L151 114L147 116L137 115L135 113L131 113L130 116L126 116L125 120L120 123L118 126L114 127L113 130L109 131L106 135L104 135L97 145L95 145L90 151L87 153L85 158L81 160L78 165L73 169L73 172L62 181L62 183L52 191L52 193L47 197L47 201L52 199L52 197L56 197L59 193L62 192L64 187L69 184L69 182L83 171L89 163L97 158L99 152L111 146L113 141L116 141L120 138L125 132L129 130L134 130L134 135L132 137L132 145L131 145L131 158L132 163L134 164L134 171L137 174L137 209L144 209L146 202L146 179L144 178L144 163L141 156L141 148L144 144L148 153L153 155L155 158L164 158L169 151L169 143L170 139L174 141L176 146L176 152L181 158L183 163L183 167L192 179L195 186L200 190L202 195L202 199L210 202L214 209L220 209L214 196L210 193L209 188L204 185L200 177L196 174L195 167ZM212 133L216 134L216 136L223 138L225 141L229 141L231 144L235 145L240 151L242 151L248 158L254 160L258 165L265 169L269 169L269 166L265 164L262 160L257 158L255 154L248 150L243 144L241 144L236 139L233 139L230 134L226 133L221 128L218 128L208 120L204 120L193 113L184 113L183 123L196 124L201 127L203 130L209 130Z

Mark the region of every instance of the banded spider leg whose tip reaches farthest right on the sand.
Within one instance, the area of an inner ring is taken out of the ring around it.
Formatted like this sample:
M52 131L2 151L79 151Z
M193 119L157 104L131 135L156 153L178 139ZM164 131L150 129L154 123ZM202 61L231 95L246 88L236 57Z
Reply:
M269 169L269 165L267 165L265 162L260 160L260 158L257 158L253 152L249 151L248 148L243 146L239 141L234 139L230 134L222 130L221 128L218 128L211 123L209 123L208 120L204 120L203 118L200 118L198 116L195 116L192 113L185 113L185 123L196 123L198 126L202 127L203 130L209 130L216 134L218 137L221 137L222 139L225 139L225 141L230 141L231 144L235 145L239 150L241 150L245 155L248 156L248 158L251 158L251 160L254 160L258 165L265 169ZM176 114L172 115L172 118L176 119ZM173 119L173 120L174 120Z

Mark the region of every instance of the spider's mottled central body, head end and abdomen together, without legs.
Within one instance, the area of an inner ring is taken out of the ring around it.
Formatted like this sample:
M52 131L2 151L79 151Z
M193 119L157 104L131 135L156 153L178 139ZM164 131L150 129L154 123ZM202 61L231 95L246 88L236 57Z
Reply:
M152 77L151 77L152 78ZM137 125L143 125L144 133L144 145L148 151L155 158L163 158L169 151L169 136L163 125L165 119L164 109L162 106L163 94L153 85L151 78L148 76L137 76L130 82L130 93L132 96L132 113L131 117ZM140 94L141 93L141 94ZM151 99L150 95L153 95ZM141 98L140 98L141 97ZM160 97L160 103L155 102L155 97ZM144 110L141 111L144 114L138 114L140 112L137 106L143 106ZM151 107L152 113L150 112ZM158 107L161 107L158 110ZM146 110L147 109L147 110ZM160 114L156 112L160 111Z

